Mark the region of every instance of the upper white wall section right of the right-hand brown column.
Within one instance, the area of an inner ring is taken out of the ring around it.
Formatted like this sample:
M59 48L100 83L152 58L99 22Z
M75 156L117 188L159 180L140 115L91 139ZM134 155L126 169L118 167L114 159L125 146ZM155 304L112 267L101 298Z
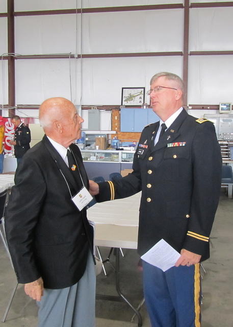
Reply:
M233 50L233 7L190 10L190 51Z

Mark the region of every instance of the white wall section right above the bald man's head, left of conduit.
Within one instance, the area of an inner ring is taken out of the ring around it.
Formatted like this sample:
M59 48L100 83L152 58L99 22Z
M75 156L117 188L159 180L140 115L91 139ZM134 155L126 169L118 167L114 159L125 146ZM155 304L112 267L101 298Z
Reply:
M68 59L16 60L15 76L16 104L40 104L51 97L71 99Z

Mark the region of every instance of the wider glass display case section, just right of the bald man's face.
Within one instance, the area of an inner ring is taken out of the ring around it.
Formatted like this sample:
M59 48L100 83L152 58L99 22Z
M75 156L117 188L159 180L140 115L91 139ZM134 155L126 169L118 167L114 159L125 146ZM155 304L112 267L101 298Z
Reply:
M120 162L119 152L111 150L81 150L83 161L88 162Z

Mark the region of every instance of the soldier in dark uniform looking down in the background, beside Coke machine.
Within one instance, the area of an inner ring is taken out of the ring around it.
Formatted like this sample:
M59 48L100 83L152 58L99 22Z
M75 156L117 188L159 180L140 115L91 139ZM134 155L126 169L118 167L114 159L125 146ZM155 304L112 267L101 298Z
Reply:
M15 115L11 119L15 126L14 141L10 142L14 146L17 165L22 159L22 156L30 149L31 132L28 126L21 122L19 116Z

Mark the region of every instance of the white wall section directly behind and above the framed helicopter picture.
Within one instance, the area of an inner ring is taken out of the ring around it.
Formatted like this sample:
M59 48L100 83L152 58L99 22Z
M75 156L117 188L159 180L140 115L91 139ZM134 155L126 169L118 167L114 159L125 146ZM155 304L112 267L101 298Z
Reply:
M120 105L122 87L149 88L151 77L163 71L182 76L183 57L101 58L83 60L82 104ZM149 103L149 97L145 101Z

